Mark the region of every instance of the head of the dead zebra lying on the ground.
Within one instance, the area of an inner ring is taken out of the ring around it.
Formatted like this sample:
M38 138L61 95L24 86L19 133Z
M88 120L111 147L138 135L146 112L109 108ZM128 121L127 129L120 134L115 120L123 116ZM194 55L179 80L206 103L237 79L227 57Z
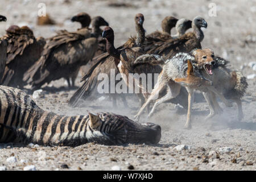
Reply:
M89 141L104 144L158 143L161 138L161 127L154 123L140 124L113 113L89 113L89 119L90 134L86 134Z

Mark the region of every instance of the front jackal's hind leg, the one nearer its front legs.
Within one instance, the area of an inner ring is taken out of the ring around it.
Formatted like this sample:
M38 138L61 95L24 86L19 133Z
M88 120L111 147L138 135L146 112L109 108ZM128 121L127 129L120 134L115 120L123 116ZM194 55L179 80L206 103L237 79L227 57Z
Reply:
M154 113L156 106L162 104L163 102L171 100L172 98L177 97L177 95L180 93L180 89L181 89L181 86L179 84L174 84L174 83L168 84L168 91L166 95L156 100L154 106L152 107L150 113L148 114L148 117L151 117L151 115Z

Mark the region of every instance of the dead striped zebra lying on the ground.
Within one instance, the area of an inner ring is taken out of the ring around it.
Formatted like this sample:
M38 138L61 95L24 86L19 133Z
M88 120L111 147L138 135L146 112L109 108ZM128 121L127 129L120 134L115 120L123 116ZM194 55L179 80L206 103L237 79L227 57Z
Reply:
M8 86L0 86L0 110L0 143L158 143L161 137L159 125L141 125L122 115L65 116L44 111L22 90Z

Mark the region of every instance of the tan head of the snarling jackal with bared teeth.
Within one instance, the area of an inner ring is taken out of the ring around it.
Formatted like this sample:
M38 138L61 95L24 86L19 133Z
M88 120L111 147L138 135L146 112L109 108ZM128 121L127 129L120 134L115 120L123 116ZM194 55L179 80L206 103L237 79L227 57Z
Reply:
M216 64L214 52L211 49L196 49L192 54L195 56L197 67L204 68L208 75L213 75L212 68Z

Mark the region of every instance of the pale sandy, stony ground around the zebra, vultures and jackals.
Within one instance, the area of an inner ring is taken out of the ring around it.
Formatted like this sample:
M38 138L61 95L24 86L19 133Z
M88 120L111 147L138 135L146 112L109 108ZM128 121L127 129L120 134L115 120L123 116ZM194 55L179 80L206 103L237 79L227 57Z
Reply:
M56 26L36 25L41 2L46 3L47 13L57 22ZM119 46L130 35L135 35L133 18L136 13L144 14L147 33L160 29L164 16L193 19L201 15L208 22L203 48L212 48L216 55L228 59L232 68L241 69L244 76L256 73L249 64L256 61L256 1L129 1L129 7L111 7L112 2L117 1L71 1L69 4L43 0L1 1L0 12L8 20L0 24L0 35L5 34L11 24L28 24L36 36L45 38L54 35L55 30L74 31L80 26L69 19L85 11L91 16L101 15L109 22L115 31L115 44ZM209 3L216 3L216 17L208 15ZM79 78L77 86L81 85ZM172 104L159 106L150 119L143 115L140 122L154 122L162 127L162 138L154 146L88 143L72 148L0 144L0 169L23 170L33 165L37 170L255 170L256 78L247 82L249 88L242 100L245 117L241 122L236 119L237 106L227 108L222 102L224 114L205 121L209 106L198 93L193 105L191 130L183 129L186 114L176 114ZM68 89L63 79L51 82L44 90L44 97L35 100L36 103L58 114L112 111L133 118L138 109L136 97L128 98L128 109L122 102L118 103L118 109L112 108L112 102L108 100L92 100L84 107L70 108L67 101L75 89ZM181 144L185 149L176 150L175 147Z

